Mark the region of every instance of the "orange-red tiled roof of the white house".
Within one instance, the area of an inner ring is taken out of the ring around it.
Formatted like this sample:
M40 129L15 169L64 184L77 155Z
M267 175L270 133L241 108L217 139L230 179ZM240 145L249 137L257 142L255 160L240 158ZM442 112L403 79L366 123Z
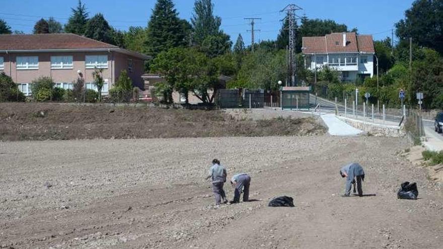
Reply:
M345 34L345 46L343 46L343 33L303 37L303 53L375 52L372 35L357 35L354 32Z

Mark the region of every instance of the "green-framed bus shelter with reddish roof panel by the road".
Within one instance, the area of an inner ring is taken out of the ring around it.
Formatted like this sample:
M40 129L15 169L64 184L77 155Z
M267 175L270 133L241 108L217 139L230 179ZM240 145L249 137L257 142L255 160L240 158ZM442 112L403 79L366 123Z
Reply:
M310 109L309 94L311 87L281 88L281 109Z

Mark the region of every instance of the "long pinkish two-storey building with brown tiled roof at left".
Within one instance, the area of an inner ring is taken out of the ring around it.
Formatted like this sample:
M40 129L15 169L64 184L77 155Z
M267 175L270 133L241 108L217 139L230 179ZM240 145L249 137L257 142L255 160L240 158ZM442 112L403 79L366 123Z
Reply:
M0 35L0 72L11 76L25 95L32 80L49 76L55 87L72 89L79 75L87 89L97 90L92 72L103 69L102 94L125 69L134 87L142 89L144 61L149 56L75 34Z

